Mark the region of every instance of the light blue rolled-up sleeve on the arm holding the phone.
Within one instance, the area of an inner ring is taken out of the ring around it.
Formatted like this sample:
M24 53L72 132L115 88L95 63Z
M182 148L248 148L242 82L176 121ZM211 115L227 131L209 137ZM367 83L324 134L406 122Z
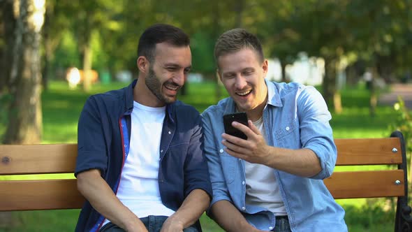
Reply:
M314 87L305 87L298 96L297 103L302 147L316 154L322 168L321 172L311 178L322 180L330 177L337 160L337 148L329 124L332 116L328 106Z

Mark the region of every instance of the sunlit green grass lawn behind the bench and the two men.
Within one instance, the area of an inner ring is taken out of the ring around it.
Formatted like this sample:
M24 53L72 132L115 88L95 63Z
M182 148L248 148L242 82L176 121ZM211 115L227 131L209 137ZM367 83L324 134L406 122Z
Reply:
M66 82L50 82L50 88L43 92L43 143L77 143L78 117L84 101L90 94L118 89L127 83L94 85L89 94L80 89L68 89ZM195 106L203 112L208 106L227 96L221 87L223 96L214 94L214 83L190 83L188 94L179 99ZM344 89L341 92L344 112L332 113L330 122L335 138L379 138L389 136L388 124L395 112L391 106L378 106L376 117L369 116L369 96L362 88ZM331 110L332 111L332 110ZM0 135L5 125L0 122ZM50 176L41 176L42 178ZM54 177L60 177L59 175ZM73 177L73 175L64 175ZM32 179L34 176L25 177ZM393 231L393 207L388 207L385 199L338 200L346 210L346 223L349 231ZM15 218L12 227L0 225L0 231L73 231L79 210L46 210L13 212ZM209 217L203 215L204 231L223 231Z

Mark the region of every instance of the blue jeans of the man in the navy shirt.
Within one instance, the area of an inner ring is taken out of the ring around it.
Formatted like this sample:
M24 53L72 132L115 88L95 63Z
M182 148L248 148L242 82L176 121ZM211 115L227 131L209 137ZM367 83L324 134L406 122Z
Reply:
M166 216L153 216L153 215L140 218L140 220L143 222L143 224L145 224L146 229L149 232L159 232L161 230L161 226L163 226L163 223L165 222L166 219L168 219L168 217ZM198 230L194 226L190 226L184 229L183 231L184 232L198 232ZM124 229L109 222L108 224L105 224L100 229L100 232L124 232Z

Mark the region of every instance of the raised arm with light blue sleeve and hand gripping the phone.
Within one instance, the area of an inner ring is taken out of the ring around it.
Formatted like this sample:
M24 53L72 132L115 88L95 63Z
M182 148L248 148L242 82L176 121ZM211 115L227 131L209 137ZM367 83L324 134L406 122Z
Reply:
M247 133L241 140L223 134L222 143L228 153L256 164L263 164L302 177L324 179L332 174L337 159L332 138L331 119L323 96L314 88L306 87L297 99L297 118L300 122L302 149L286 149L267 145L253 123L249 127L239 123L235 127ZM230 143L228 143L230 142Z

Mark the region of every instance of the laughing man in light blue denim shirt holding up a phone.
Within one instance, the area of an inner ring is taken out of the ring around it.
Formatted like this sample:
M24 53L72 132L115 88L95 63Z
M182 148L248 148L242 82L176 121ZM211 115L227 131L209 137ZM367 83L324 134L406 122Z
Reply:
M331 115L314 87L265 80L258 38L223 33L214 47L230 97L202 114L213 198L208 215L225 231L347 231L344 209L323 184L337 149ZM247 139L224 131L223 115L245 112Z

